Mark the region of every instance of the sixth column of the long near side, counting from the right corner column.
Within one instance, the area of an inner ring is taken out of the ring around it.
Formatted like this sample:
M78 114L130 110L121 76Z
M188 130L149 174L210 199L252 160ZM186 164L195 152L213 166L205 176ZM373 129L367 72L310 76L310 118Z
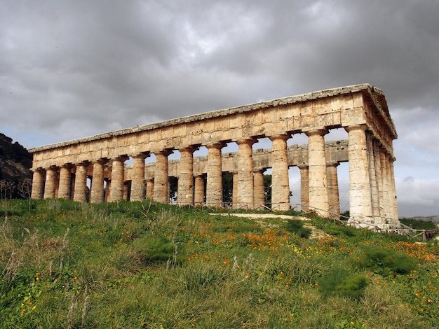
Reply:
M180 149L177 204L194 205L194 148Z

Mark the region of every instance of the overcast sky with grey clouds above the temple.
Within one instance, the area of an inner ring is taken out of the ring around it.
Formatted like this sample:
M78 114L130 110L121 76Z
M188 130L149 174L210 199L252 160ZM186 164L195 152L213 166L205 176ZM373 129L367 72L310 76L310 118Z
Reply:
M437 0L1 2L0 132L26 148L370 83L400 216L439 214Z

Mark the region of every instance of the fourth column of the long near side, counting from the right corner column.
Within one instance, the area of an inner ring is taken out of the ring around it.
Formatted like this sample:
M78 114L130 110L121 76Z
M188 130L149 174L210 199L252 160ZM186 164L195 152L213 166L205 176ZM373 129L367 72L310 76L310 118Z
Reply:
M238 195L235 209L254 209L253 159L254 139L243 139L238 144Z

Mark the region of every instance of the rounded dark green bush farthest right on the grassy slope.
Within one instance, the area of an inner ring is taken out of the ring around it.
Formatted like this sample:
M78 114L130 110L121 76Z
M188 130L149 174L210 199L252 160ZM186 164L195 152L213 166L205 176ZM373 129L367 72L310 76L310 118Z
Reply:
M383 275L408 274L417 268L413 258L391 249L366 248L355 261L359 267Z

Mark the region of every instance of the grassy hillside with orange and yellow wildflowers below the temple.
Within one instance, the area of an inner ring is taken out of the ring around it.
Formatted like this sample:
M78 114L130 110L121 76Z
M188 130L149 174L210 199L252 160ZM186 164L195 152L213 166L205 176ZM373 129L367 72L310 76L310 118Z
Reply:
M436 240L208 211L0 202L1 328L439 325Z

